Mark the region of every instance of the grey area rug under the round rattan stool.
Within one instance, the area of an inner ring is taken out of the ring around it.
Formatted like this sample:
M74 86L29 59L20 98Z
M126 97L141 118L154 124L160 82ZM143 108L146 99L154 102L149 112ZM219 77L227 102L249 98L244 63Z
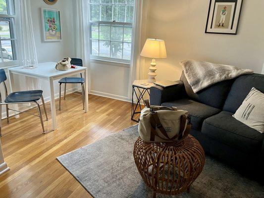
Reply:
M95 198L152 198L133 158L137 125L57 157ZM190 193L157 198L264 198L264 187L207 156Z

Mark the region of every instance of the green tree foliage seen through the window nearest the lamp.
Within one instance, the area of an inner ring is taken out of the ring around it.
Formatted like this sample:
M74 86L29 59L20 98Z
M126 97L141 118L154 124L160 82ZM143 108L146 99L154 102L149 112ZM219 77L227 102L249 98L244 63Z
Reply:
M125 1L127 4L125 4ZM98 3L99 1L91 0L91 2ZM112 0L102 0L102 3L109 4L91 4L92 21L116 21L132 23L134 15L134 0L113 0L113 2L123 4L112 5ZM100 38L98 38L98 32L100 32ZM101 24L99 29L98 24L92 25L92 39L100 39L106 41L110 41L111 39L111 42L104 42L104 46L106 48L110 48L111 57L119 57L120 54L122 54L123 50L122 42L131 42L131 37L132 28L129 26L125 26L123 30L123 25L112 25L110 28L110 25L108 24Z

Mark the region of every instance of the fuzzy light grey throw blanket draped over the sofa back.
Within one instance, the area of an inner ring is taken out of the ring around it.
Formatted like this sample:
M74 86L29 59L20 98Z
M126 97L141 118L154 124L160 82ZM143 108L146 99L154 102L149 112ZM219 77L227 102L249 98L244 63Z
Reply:
M251 69L240 69L231 65L214 64L197 60L184 60L180 62L180 65L194 93L214 83L236 78L243 74L253 73Z

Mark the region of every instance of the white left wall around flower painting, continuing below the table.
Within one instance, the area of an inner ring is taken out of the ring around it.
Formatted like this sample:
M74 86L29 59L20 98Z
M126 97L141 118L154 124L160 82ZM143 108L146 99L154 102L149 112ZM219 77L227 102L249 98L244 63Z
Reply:
M57 62L64 57L74 57L74 40L73 40L73 12L72 12L72 0L58 0L54 5L48 5L44 0L31 0L31 12L32 12L32 22L34 28L34 37L37 48L38 62L47 62L54 61ZM60 10L61 17L61 33L62 40L59 42L43 42L42 35L42 23L41 23L41 12L40 8L53 8ZM19 33L18 33L19 34ZM6 70L7 73L7 70ZM25 84L24 77L19 75L14 76L15 86L13 91L23 91L28 89L41 89L43 90L43 95L45 100L50 100L49 97L49 86L47 81L40 80L39 83L37 80L27 80ZM9 89L9 82L6 82ZM67 89L75 89L74 85L67 85ZM54 82L54 92L55 97L58 97L59 84L57 81ZM1 93L4 93L3 88L1 87ZM2 111L3 117L6 116L5 108Z

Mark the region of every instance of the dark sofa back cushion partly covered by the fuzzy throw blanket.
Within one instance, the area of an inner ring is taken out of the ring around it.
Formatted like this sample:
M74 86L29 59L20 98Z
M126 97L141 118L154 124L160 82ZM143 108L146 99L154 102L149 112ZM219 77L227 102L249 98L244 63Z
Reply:
M188 97L219 109L223 108L227 95L234 82L234 79L222 81L219 83L215 83L197 93L194 93L184 75L184 72L182 72L180 80L184 83L184 87Z

